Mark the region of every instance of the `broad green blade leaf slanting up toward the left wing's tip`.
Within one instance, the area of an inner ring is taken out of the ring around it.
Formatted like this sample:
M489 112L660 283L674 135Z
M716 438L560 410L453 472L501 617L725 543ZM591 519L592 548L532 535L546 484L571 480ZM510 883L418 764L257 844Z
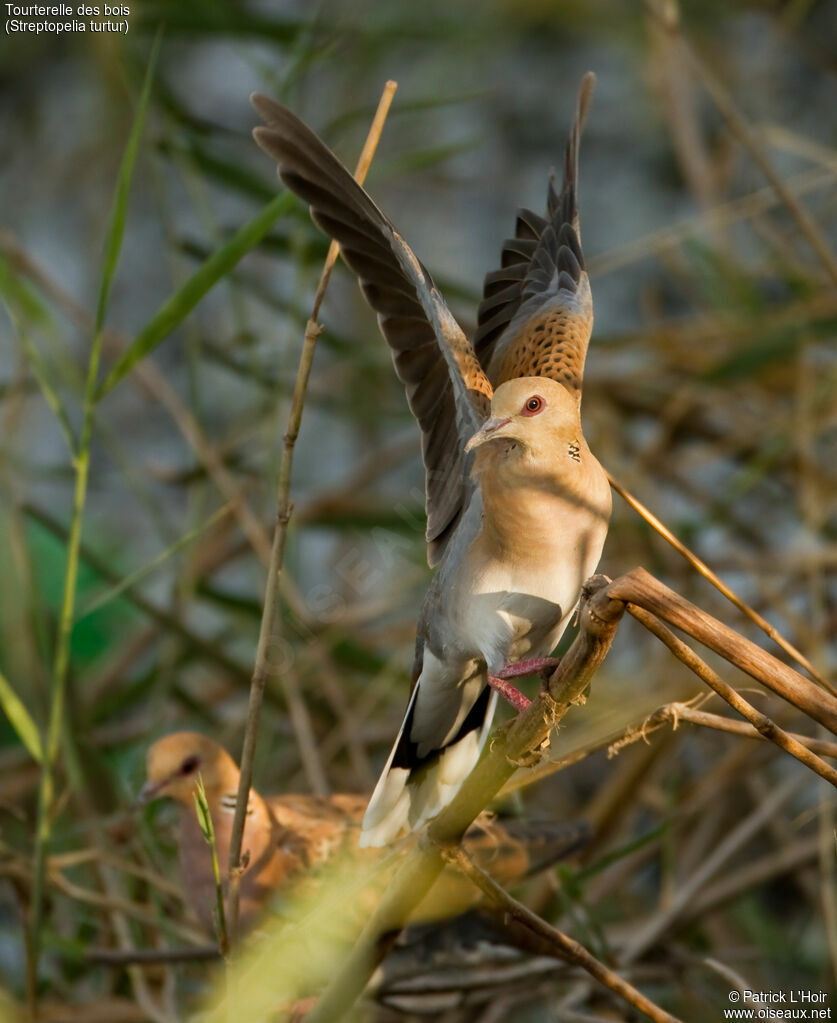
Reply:
M278 217L291 209L293 202L294 196L291 192L276 195L199 267L134 338L99 387L96 393L97 401L113 391L137 362L152 352L164 338L186 318L207 292L217 284L254 246L258 244Z

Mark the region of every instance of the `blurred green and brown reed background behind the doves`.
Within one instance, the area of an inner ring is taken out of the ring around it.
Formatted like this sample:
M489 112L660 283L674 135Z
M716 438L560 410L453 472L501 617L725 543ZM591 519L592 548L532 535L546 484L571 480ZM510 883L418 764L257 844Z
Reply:
M677 34L642 4L617 0L161 0L131 5L127 36L3 37L0 672L39 728L51 700L75 479L38 377L51 382L78 431L111 195L160 26L102 375L276 193L272 166L250 137L251 91L291 105L352 165L381 87L399 82L367 187L470 326L517 207L542 209L577 83L592 69L580 188L597 320L583 413L590 446L830 672L837 7L695 0L680 17ZM790 205L731 128L707 75L733 97ZM794 204L808 211L819 253ZM84 959L91 944L114 940L101 857L117 857L120 898L143 910L128 911L137 945L194 934L176 893L155 882L171 876L169 808L138 816L130 804L145 749L167 731L206 731L240 751L281 437L325 248L295 202L95 406L57 858L47 872L43 1019L148 1018L124 970ZM405 704L429 578L417 430L343 267L321 319L293 480L278 670L256 767L263 792L369 791ZM776 652L615 497L602 570L615 577L636 565ZM620 627L557 754L601 747L700 693L641 631ZM775 698L752 699L804 730ZM12 704L4 690L4 708ZM723 712L716 702L707 709ZM313 757L301 754L301 733L313 737ZM502 809L593 822L583 865L562 869L561 886L554 875L530 897L547 919L569 919L598 953L618 958L630 934L676 908L677 892L767 794L802 772L763 744L666 726L616 758L600 749L518 790ZM10 1006L24 997L38 779L19 727L0 717L0 984ZM707 957L753 988L834 988L834 800L800 781L672 913L643 959L636 976L687 1020L716 1020L728 1005L729 976ZM208 976L206 967L168 971L171 1005L188 1013ZM592 1016L557 1008L569 988L558 978L513 991L499 1015L479 1006L454 1015L624 1018L589 992Z

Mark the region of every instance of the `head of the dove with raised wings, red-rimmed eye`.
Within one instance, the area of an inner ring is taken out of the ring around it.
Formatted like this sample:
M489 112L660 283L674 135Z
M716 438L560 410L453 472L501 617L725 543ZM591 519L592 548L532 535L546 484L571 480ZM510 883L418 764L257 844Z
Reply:
M499 442L499 443L495 443ZM536 461L562 454L578 462L584 444L577 397L548 376L519 376L494 392L491 415L466 445L519 450Z

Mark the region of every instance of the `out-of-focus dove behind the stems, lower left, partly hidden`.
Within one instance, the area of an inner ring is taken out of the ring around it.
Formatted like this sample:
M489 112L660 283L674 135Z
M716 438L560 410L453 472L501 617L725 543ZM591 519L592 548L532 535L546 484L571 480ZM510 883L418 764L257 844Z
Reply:
M158 740L146 756L147 781L138 802L170 797L181 804L180 873L189 905L205 926L212 926L215 878L207 842L197 822L194 793L202 779L215 832L221 878L229 871L229 840L238 768L218 743L194 731L176 731ZM263 799L250 791L243 850L247 866L241 877L240 920L249 927L276 893L345 853L370 862L370 851L358 848L360 821L366 807L362 796L287 794ZM509 884L563 858L589 838L583 822L500 825L481 818L466 838L466 848L500 883ZM462 890L465 895L462 895ZM423 919L447 916L473 904L475 889L457 875L441 882L440 897L422 908Z

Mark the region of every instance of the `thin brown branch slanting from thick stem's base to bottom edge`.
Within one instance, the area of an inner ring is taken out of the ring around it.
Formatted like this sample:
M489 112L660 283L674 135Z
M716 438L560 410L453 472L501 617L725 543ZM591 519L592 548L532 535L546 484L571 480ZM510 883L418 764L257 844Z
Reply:
M541 920L537 914L532 913L527 906L513 898L504 888L494 881L494 879L478 866L461 848L448 849L445 852L445 859L454 863L462 874L467 875L474 884L483 891L501 909L508 913L515 920L520 921L538 937L543 938L552 947L553 953L566 963L579 966L585 970L594 980L604 984L614 994L624 998L628 1005L638 1009L641 1013L648 1016L655 1023L678 1023L676 1016L671 1016L664 1009L655 1005L646 997L642 991L629 984L623 977L609 969L591 954L578 941L569 935L559 931L558 928Z

